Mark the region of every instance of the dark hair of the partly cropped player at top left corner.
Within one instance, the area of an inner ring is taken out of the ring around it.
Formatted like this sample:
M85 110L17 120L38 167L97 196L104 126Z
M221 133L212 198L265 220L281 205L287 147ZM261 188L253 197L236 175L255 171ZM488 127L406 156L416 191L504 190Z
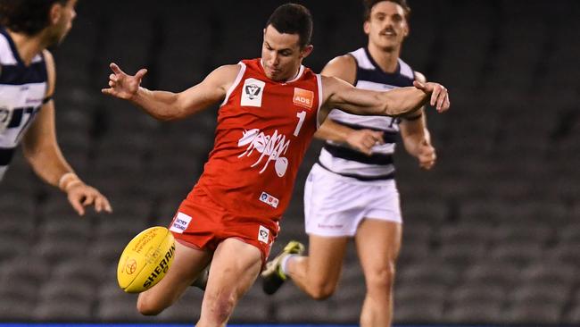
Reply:
M17 33L36 35L49 24L50 8L68 0L0 0L0 25Z

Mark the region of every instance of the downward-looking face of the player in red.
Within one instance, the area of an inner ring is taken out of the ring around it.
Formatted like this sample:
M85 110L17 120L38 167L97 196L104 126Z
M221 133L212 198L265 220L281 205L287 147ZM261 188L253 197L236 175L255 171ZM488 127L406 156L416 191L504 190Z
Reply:
M298 34L280 33L271 25L264 29L261 60L270 80L292 80L311 51L312 46L300 48Z

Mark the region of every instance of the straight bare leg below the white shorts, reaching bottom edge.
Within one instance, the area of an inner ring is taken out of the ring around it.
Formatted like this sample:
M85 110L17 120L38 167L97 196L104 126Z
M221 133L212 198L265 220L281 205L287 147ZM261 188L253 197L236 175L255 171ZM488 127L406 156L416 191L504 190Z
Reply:
M399 222L377 219L360 222L355 240L367 285L360 313L361 327L391 325L394 272L401 235Z

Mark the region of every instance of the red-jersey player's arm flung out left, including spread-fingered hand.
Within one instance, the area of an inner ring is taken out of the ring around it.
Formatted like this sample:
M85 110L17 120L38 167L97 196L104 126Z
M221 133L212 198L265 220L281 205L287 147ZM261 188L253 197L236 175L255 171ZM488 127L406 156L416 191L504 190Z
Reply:
M109 88L102 92L119 97L143 108L145 113L162 121L185 118L223 99L228 88L236 80L239 65L225 65L212 71L201 83L183 92L152 91L140 86L147 70L128 75L120 67L111 63Z

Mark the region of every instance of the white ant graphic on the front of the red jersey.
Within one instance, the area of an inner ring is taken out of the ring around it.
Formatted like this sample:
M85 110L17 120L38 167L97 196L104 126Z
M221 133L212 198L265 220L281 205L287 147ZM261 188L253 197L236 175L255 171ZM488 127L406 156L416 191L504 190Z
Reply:
M241 158L244 155L252 155L253 150L256 150L256 152L261 154L258 160L256 160L251 167L255 167L260 164L262 160L266 159L260 173L268 168L270 161L273 161L274 169L278 176L282 177L286 174L286 170L288 169L288 159L280 155L286 154L288 147L290 147L290 140L286 140L286 135L278 134L278 130L274 130L274 134L272 135L266 135L263 131L258 129L244 130L242 138L237 141L237 146L248 146L243 154L237 156L238 158Z

